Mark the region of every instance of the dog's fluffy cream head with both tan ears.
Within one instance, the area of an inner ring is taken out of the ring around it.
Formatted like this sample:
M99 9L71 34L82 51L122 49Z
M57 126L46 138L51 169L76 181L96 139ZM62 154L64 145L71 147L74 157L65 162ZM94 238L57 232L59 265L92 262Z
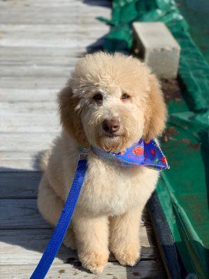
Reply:
M59 94L59 108L77 144L115 152L160 135L167 114L157 79L144 63L103 52L79 59Z

